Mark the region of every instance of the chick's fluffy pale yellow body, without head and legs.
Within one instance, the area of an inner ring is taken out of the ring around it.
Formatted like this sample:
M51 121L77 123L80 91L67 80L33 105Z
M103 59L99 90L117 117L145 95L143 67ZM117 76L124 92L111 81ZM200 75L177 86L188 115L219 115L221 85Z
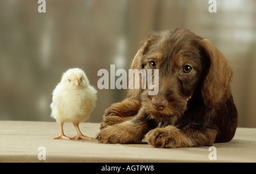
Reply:
M51 117L57 122L84 121L95 107L97 91L88 85L84 88L67 88L59 83L53 90Z

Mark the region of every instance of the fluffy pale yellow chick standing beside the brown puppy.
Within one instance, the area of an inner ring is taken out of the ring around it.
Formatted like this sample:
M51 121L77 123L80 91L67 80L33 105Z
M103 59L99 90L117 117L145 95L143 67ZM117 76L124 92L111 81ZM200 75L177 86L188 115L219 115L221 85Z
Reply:
M81 133L79 123L88 118L96 100L97 91L90 86L84 71L79 68L67 70L52 92L51 117L60 125L60 135L53 139L93 139ZM70 138L64 135L64 122L73 122L76 136Z

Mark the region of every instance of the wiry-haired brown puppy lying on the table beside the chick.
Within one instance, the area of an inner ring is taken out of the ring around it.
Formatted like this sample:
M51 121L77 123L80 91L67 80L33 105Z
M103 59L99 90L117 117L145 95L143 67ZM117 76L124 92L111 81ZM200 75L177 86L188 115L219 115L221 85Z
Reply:
M233 138L232 70L208 39L186 29L152 33L131 69L158 69L159 92L129 90L125 100L106 109L98 141L141 143L146 138L154 147L193 147Z

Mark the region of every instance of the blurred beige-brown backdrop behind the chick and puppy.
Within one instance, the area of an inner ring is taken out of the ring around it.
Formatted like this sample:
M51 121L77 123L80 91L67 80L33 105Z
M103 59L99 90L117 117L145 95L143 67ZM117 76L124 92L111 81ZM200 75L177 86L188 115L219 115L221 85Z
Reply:
M256 127L256 1L216 0L0 1L0 120L55 121L52 90L71 67L85 70L98 90L86 122L100 122L126 90L99 90L97 71L129 69L140 41L151 31L187 28L207 37L233 69L238 126Z

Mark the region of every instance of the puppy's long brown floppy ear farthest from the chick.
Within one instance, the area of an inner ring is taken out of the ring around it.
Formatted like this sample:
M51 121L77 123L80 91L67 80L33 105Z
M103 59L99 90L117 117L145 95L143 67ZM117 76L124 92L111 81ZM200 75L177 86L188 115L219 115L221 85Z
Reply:
M203 48L209 58L209 70L204 79L201 94L207 107L218 106L229 91L232 70L225 56L208 39L203 40Z

